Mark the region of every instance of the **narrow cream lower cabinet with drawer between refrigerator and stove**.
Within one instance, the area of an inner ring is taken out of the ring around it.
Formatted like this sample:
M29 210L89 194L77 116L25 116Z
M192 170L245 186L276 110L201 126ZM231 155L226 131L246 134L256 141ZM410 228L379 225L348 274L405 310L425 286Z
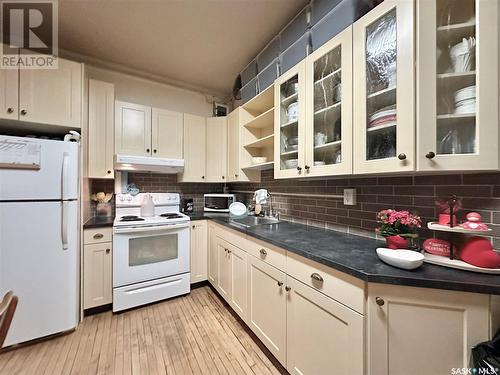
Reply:
M113 301L111 228L87 229L83 245L83 308Z

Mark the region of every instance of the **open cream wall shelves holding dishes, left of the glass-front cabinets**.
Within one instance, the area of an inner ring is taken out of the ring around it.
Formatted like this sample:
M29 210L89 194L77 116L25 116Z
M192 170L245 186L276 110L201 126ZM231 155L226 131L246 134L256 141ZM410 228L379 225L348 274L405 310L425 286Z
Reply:
M274 85L243 105L248 119L242 124L244 170L272 169L274 165Z

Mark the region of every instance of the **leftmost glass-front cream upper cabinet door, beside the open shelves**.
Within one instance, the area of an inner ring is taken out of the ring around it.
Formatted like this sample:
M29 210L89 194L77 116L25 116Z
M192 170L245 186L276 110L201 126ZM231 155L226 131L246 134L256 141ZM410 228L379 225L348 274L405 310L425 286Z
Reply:
M274 177L305 175L306 65L300 62L274 83Z

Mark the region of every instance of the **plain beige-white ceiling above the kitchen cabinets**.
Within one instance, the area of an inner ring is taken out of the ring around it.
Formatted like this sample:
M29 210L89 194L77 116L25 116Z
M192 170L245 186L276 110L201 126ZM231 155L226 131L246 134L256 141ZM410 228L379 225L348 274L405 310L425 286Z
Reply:
M60 0L59 48L97 65L229 94L308 0Z

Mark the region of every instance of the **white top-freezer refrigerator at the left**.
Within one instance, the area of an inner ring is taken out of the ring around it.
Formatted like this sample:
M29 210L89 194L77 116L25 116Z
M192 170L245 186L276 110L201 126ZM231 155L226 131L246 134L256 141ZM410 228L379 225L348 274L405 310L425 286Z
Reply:
M19 298L4 347L77 326L79 149L0 135L0 298Z

